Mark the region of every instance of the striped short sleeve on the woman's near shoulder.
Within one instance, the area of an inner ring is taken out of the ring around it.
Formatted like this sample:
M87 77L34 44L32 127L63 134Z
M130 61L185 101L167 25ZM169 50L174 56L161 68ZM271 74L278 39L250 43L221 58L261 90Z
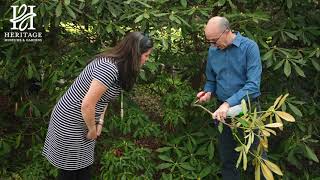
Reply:
M92 78L110 87L118 79L118 69L110 62L102 62L94 68Z

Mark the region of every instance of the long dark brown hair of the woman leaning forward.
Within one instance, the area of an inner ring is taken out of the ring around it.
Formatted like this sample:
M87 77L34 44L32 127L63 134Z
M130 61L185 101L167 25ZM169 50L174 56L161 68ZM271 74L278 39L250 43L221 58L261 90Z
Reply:
M111 58L118 66L120 86L129 91L141 67L141 55L153 47L152 40L141 32L129 32L114 48L96 57Z

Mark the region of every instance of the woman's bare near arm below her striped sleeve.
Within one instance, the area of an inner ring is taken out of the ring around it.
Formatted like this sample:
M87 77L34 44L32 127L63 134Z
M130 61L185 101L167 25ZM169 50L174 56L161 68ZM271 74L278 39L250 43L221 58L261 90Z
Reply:
M107 87L100 81L93 79L87 94L84 96L81 104L82 117L89 130L87 134L88 139L97 138L97 129L95 122L95 107Z

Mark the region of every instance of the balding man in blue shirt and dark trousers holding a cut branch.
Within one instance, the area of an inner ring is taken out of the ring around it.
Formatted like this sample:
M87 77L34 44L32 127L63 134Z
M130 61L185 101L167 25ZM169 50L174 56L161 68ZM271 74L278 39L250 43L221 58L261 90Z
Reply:
M197 98L199 102L204 102L215 96L220 107L214 112L214 117L224 121L228 109L240 104L247 94L251 101L260 96L260 52L253 40L243 37L239 32L233 33L225 17L211 18L205 27L205 36L211 45L206 67L207 81L204 91L199 92ZM240 179L235 147L231 129L224 126L219 136L224 180Z

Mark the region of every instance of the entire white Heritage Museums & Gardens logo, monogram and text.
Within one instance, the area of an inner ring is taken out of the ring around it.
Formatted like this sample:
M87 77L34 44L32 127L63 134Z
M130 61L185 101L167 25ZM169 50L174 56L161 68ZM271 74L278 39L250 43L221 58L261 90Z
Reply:
M22 4L19 6L11 6L12 23L11 31L4 32L4 41L6 42L41 42L42 32L35 31L34 17L37 16L34 13L36 6L27 6Z

